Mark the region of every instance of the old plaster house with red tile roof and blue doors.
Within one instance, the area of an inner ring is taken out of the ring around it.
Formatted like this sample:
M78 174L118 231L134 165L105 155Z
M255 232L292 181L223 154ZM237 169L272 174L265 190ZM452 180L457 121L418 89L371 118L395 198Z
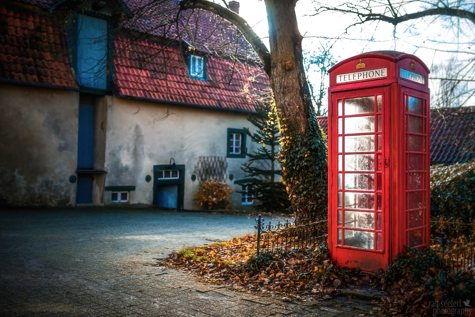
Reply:
M1 205L200 209L203 168L241 190L268 77L228 21L178 4L0 3Z

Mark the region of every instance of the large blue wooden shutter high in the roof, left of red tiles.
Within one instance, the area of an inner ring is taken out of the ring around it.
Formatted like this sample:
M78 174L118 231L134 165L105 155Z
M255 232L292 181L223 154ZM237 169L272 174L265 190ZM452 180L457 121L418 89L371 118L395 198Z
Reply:
M76 23L76 76L79 85L107 89L107 20L79 14Z

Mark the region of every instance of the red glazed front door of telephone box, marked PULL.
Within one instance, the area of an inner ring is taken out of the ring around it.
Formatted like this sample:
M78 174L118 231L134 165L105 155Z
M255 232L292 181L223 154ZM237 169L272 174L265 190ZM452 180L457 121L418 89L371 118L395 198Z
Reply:
M329 247L340 266L388 264L389 100L388 86L332 94Z

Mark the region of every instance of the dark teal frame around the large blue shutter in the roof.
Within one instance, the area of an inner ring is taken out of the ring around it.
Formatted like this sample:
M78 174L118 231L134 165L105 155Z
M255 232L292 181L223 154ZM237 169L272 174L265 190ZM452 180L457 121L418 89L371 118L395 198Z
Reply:
M89 16L92 18L103 19L107 22L107 61L106 61L106 88L100 89L95 87L87 87L81 86L79 83L79 91L83 93L90 93L90 94L97 94L97 95L110 95L112 96L112 74L113 74L113 54L114 54L114 47L113 47L113 34L114 34L114 23L111 19L107 19L102 15L89 13L83 14L83 16ZM76 14L73 19L73 24L71 28L70 38L72 39L71 43L71 67L74 70L75 76L78 76L78 31L80 28L79 25L79 14Z

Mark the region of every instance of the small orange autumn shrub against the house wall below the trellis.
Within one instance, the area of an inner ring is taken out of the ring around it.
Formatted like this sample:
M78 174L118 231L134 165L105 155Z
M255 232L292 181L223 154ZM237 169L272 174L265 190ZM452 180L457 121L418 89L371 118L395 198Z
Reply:
M229 209L233 190L228 183L217 182L213 179L201 183L194 201L207 209Z

